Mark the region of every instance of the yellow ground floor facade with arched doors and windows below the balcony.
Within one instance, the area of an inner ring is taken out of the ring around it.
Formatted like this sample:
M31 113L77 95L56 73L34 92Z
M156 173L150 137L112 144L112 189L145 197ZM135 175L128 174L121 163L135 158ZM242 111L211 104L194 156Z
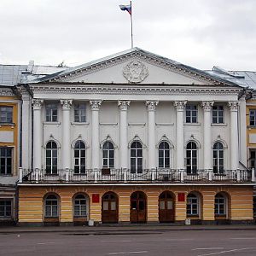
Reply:
M247 185L22 185L19 224L253 222Z

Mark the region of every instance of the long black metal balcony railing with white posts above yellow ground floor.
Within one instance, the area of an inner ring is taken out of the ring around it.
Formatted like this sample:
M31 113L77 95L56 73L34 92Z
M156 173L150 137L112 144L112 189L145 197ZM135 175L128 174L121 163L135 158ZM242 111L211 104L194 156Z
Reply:
M86 169L73 170L27 170L20 168L20 183L254 183L253 170L225 170L215 173L212 170L143 169L132 172L130 169Z

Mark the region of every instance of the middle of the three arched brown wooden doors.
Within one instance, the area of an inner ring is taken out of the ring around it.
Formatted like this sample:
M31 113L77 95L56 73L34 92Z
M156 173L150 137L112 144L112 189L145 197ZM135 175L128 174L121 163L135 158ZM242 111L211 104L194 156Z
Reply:
M145 223L147 221L147 201L143 192L131 194L131 223Z

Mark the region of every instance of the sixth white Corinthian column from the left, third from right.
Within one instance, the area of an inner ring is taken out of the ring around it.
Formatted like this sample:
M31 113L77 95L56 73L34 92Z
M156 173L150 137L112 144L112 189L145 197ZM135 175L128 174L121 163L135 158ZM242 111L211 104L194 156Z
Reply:
M184 169L184 108L186 101L174 102L176 108L176 168Z

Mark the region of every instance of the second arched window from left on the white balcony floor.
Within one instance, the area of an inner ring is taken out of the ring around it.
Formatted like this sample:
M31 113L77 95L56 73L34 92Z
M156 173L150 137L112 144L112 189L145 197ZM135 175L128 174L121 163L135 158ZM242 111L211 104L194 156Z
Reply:
M85 173L85 144L82 141L75 143L74 173Z

